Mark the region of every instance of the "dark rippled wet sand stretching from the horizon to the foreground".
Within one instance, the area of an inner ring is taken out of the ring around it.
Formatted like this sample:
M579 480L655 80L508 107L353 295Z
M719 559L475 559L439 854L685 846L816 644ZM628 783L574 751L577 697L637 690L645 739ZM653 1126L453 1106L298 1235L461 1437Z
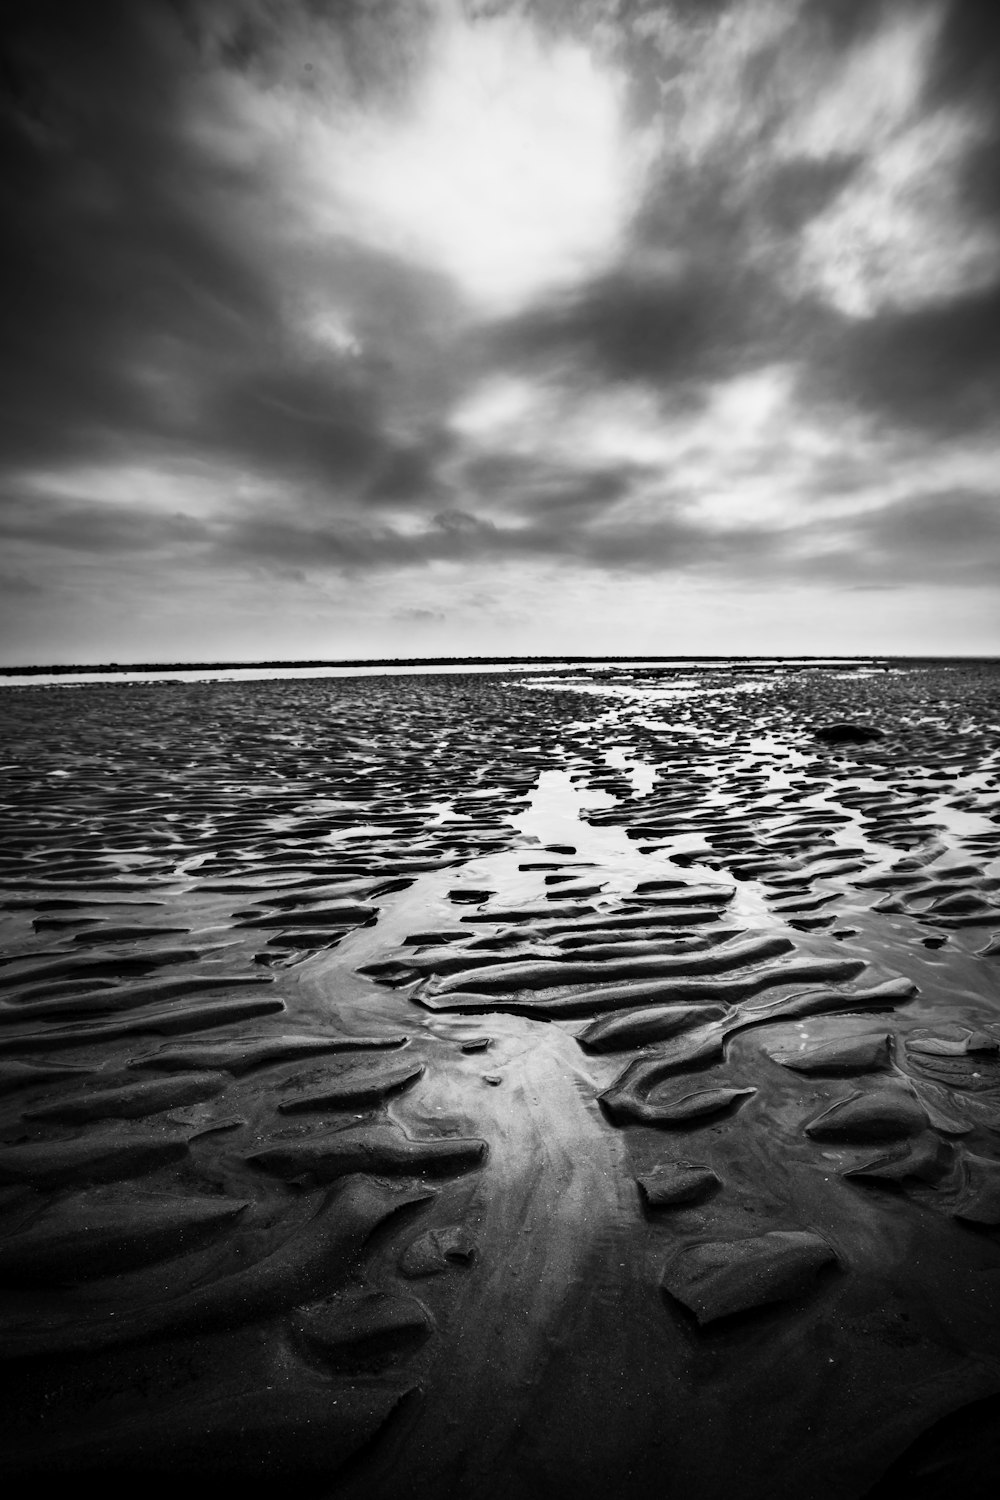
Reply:
M25 1492L993 1490L1000 668L0 698Z

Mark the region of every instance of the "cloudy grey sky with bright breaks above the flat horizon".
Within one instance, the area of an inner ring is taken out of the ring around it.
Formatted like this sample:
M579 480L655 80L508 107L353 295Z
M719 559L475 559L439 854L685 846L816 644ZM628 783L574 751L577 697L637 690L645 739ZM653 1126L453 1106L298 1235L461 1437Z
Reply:
M1000 654L996 0L6 0L0 662Z

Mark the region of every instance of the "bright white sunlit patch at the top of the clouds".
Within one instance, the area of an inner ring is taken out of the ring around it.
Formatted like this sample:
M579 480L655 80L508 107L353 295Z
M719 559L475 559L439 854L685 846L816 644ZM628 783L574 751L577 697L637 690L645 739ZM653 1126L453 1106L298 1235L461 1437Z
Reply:
M576 40L450 6L402 108L312 122L316 222L445 272L483 310L510 310L621 250L646 152L625 90Z

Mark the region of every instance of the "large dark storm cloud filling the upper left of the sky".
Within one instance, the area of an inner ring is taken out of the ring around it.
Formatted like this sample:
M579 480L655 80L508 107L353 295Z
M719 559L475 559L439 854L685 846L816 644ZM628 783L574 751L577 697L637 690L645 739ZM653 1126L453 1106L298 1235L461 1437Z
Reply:
M0 462L187 452L402 496L415 458L384 432L384 372L286 338L261 182L189 129L195 20L4 12ZM375 254L358 274L406 338L426 276Z

